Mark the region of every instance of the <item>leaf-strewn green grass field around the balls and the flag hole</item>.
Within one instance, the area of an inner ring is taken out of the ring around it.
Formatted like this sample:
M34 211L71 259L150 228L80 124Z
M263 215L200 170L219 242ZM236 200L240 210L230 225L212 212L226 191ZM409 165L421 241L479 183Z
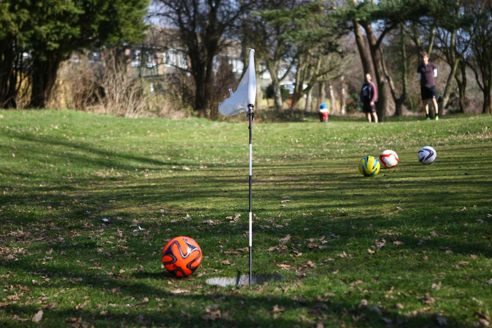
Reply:
M247 272L246 120L0 111L0 327L487 327L492 116L391 119L253 125L253 269L284 278L238 288L205 280Z

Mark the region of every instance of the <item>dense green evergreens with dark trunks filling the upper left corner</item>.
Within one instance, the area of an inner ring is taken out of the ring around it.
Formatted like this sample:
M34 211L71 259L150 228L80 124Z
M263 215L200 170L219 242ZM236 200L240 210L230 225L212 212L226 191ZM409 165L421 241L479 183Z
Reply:
M0 3L0 101L15 107L16 54L31 57L31 102L45 107L58 68L77 50L138 42L149 0L10 0ZM1 104L1 103L0 103Z

